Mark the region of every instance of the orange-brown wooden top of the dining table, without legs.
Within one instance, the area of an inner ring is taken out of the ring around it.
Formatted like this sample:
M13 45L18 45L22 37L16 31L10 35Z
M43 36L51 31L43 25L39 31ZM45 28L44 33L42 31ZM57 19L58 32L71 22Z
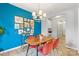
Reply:
M30 44L30 45L39 45L39 44L42 44L42 43L44 43L44 42L49 42L51 39L53 39L53 38L44 37L43 40L40 41L40 39L35 38L35 39L32 40L32 41L27 39L26 42L27 42L28 44Z

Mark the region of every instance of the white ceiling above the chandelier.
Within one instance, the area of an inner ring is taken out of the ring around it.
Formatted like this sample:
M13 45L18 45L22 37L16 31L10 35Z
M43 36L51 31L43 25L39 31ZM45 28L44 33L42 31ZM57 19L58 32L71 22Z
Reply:
M47 13L47 16L67 10L76 6L75 3L11 3L17 7L28 10L30 12L37 11L37 9L42 9Z

